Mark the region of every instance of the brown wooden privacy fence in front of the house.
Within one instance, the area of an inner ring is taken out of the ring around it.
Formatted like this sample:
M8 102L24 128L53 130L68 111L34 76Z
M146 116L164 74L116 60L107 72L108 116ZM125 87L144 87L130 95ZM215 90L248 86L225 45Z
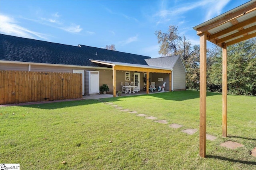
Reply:
M82 74L0 71L0 104L82 98Z

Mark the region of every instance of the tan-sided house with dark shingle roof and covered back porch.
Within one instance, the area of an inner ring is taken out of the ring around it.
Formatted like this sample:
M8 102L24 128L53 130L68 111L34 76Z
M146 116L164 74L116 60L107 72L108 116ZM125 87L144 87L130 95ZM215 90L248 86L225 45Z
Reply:
M99 86L108 84L115 96L116 91L122 90L121 82L134 82L141 90L147 86L144 77L156 82L156 86L166 82L166 91L185 89L186 69L182 65L178 56L152 59L86 45L64 45L0 34L0 70L81 73L83 95L98 94ZM180 74L180 78L175 78L172 72Z

